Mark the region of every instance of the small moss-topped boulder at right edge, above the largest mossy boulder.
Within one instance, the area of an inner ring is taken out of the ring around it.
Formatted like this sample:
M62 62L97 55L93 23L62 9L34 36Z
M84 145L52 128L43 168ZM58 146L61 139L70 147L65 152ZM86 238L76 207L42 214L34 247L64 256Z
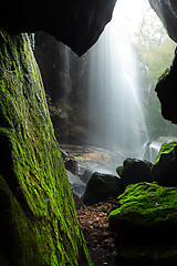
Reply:
M177 186L177 142L163 143L152 174L159 185Z

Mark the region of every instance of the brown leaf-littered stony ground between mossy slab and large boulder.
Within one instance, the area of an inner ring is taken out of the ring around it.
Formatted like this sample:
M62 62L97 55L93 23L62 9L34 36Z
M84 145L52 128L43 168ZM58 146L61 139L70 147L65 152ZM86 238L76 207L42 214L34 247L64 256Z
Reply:
M108 229L108 214L117 208L116 198L94 206L80 204L77 217L94 266L115 265L116 247Z

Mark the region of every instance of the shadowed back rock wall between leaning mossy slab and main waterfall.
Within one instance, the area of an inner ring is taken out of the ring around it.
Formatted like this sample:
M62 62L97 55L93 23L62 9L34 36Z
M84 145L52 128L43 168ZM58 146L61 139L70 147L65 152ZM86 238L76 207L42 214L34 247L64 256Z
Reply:
M87 143L88 53L79 58L69 47L40 31L35 33L34 55L56 139L60 143Z

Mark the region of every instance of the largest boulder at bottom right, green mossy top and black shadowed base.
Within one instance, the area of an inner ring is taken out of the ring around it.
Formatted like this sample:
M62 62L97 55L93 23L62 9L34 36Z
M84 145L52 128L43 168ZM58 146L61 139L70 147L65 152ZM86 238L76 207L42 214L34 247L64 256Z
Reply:
M124 266L176 265L177 188L129 185L118 202L121 207L108 216L118 260Z

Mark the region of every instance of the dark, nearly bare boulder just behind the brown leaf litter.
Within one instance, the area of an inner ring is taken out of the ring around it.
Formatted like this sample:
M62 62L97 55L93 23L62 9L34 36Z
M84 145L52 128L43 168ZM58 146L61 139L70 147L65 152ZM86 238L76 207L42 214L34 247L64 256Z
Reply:
M82 197L84 204L94 205L118 195L119 178L110 174L94 173L86 185Z

